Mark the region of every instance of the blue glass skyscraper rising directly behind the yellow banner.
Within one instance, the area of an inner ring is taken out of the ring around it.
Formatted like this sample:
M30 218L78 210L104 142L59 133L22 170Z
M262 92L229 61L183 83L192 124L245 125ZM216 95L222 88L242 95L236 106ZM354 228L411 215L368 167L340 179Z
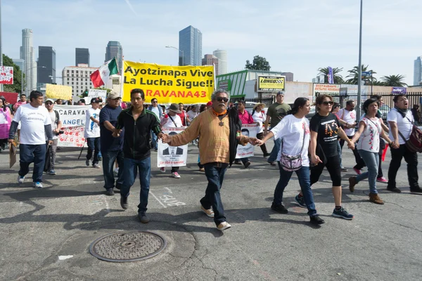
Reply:
M202 65L202 33L192 25L179 31L179 50L179 65Z

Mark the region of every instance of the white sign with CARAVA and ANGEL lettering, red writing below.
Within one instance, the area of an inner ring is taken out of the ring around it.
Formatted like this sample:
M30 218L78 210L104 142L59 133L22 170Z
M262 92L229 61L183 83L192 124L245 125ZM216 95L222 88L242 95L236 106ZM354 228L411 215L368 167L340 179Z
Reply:
M61 147L85 147L85 111L91 105L54 105L62 122L62 130L64 133L58 136L58 146Z

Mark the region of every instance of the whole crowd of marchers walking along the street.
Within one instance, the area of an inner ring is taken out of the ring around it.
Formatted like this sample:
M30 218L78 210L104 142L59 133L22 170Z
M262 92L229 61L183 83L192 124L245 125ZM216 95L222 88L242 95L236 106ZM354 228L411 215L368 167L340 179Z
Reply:
M108 94L104 104L100 98L92 98L91 107L86 111L84 130L88 145L86 164L100 169L102 161L106 195L114 195L115 188L120 190L123 209L129 206L129 190L139 173L138 216L142 223L148 223L151 150L158 150L158 140L172 148L188 143L198 145L198 166L208 181L205 195L200 199L200 209L214 218L219 230L231 227L224 216L220 195L224 175L232 164L243 164L245 169L251 165L246 157L236 158L238 145L248 143L259 145L262 155L268 157L267 162L279 167L280 177L271 209L281 214L288 213L283 205L283 191L295 172L301 188L295 202L307 208L310 222L315 225L324 223L324 220L316 213L312 185L319 181L324 168L332 181L332 215L346 220L354 218L342 206L341 173L347 171L342 162L345 142L356 162L352 169L357 176L349 178L350 192L354 192L358 183L368 179L369 201L384 204L376 185L387 183L387 190L401 192L396 178L402 158L407 162L410 191L422 192L418 185L418 155L407 145L418 121L418 108L409 110L405 95L394 97L395 106L388 112L388 125L384 124L379 110L382 97L376 95L363 103L364 115L359 120L353 100L340 108L331 96L325 94L316 97L316 113L310 121L306 117L311 107L307 98L297 98L290 107L284 103L284 94L276 93L276 102L269 106L267 115L263 103L255 104L249 112L244 101L233 105L229 98L229 93L217 90L206 105L189 105L186 109L183 103L162 107L157 98L151 100L151 105L146 105L141 89L131 91L129 104L122 103L120 95L114 91ZM43 171L56 174L57 136L62 132L62 124L58 112L53 109L55 104L62 105L63 100L49 98L44 102L39 91L32 91L28 101L25 95L21 95L15 105L8 105L6 99L0 97L0 149L6 149L7 143L16 145L15 133L18 132L18 183L24 183L31 163L34 163L34 188L42 188ZM242 124L257 124L256 138L243 134ZM162 132L162 128L176 127L185 129L174 135ZM274 147L268 152L265 143L271 138L274 138ZM381 163L387 146L391 161L388 178L385 178ZM364 166L366 172L362 171ZM160 171L166 172L165 168ZM173 178L181 178L178 166L172 166L171 174Z

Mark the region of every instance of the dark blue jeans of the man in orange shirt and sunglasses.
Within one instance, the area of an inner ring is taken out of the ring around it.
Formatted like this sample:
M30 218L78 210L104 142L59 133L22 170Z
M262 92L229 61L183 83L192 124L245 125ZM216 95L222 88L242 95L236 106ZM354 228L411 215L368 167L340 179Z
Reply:
M205 196L200 200L200 204L202 204L205 209L210 209L212 207L212 211L214 211L214 222L217 226L226 221L222 197L220 196L219 190L222 188L227 166L229 166L229 164L204 164L208 185L207 190L205 190Z

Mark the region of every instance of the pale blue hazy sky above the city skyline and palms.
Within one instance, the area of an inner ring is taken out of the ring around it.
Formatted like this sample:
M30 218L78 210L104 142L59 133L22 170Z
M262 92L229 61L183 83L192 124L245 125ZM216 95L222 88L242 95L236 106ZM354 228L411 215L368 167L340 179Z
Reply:
M413 84L422 55L422 1L364 0L362 64ZM75 48L89 48L91 67L104 63L108 41L120 41L125 60L177 65L179 31L203 34L203 55L227 51L228 71L243 70L255 55L272 71L312 81L319 67L358 65L359 0L2 0L3 53L19 58L22 30L33 44L56 50L56 75L75 64ZM60 79L58 79L60 83Z

